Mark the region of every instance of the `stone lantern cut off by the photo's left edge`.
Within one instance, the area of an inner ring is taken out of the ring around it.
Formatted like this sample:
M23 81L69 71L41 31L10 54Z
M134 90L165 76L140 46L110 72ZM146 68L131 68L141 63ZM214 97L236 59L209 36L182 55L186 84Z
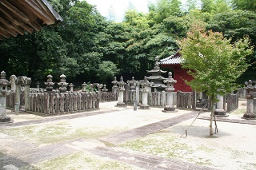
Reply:
M10 117L6 116L6 96L10 94L8 85L10 82L6 80L6 72L2 71L0 75L0 122L10 121Z

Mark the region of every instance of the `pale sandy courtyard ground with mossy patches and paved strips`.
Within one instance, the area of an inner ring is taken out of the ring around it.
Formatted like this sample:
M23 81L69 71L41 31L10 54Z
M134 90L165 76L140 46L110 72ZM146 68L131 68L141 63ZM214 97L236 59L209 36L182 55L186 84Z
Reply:
M205 120L210 113L202 113L181 138L198 112L133 111L115 104L58 117L9 113L14 123L0 125L0 169L256 168L256 121L241 121L244 105L218 119L213 138Z

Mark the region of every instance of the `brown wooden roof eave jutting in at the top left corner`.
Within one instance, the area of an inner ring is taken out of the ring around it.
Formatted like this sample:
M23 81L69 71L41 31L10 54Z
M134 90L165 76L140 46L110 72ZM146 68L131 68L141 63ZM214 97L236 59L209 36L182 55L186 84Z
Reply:
M0 0L0 39L62 22L46 0Z

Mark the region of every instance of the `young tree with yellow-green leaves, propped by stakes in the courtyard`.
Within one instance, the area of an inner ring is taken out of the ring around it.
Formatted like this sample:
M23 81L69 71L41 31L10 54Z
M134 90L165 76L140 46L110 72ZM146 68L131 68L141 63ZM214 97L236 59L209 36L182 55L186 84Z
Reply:
M194 77L186 81L192 89L206 92L211 101L210 136L213 135L214 102L217 94L233 90L235 80L247 69L246 56L253 52L250 39L243 38L233 44L222 33L206 31L193 26L179 45L184 62L182 67Z

